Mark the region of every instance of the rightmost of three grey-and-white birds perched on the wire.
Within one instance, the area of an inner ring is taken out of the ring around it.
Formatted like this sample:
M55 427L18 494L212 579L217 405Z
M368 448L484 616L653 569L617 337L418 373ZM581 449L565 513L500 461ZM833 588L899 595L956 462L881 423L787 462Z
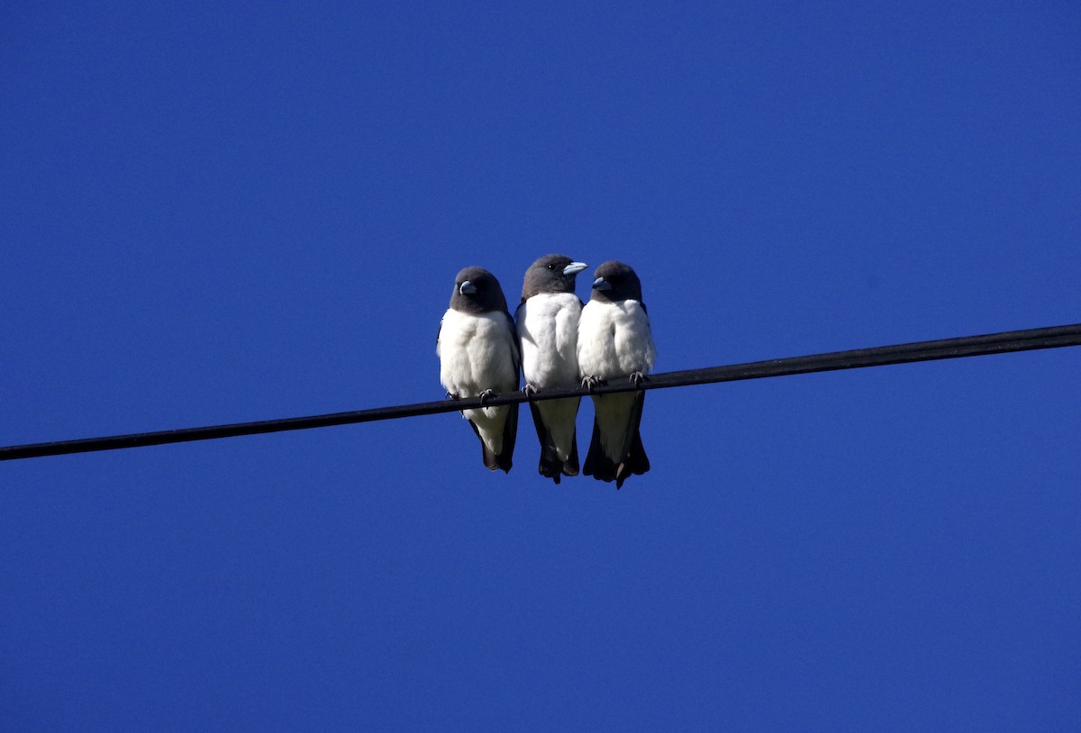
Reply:
M578 319L578 373L592 391L609 379L624 377L636 386L646 379L656 359L650 319L642 303L642 284L622 262L602 263L589 303ZM593 435L582 472L616 489L633 474L650 470L639 426L645 392L592 395Z

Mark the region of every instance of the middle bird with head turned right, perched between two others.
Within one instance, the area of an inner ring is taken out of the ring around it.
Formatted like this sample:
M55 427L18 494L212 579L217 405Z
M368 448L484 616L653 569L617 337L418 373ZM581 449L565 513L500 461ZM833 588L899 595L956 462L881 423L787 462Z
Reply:
M582 299L574 294L574 276L589 265L561 254L540 257L525 270L522 302L515 312L522 355L522 391L573 388L578 375L578 316ZM578 475L574 421L582 398L530 402L540 441L540 476L557 484L561 476Z

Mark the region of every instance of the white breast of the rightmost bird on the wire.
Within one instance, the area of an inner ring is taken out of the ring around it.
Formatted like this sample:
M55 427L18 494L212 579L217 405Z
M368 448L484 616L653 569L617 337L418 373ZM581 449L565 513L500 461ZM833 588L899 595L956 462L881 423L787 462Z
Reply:
M606 379L653 369L650 319L638 301L590 301L578 321L578 371Z

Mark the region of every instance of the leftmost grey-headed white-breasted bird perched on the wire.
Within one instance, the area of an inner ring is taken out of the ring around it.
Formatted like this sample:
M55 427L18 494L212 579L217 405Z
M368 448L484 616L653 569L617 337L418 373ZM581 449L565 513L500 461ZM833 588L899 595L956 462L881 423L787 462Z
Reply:
M482 267L466 267L454 278L451 304L436 339L439 381L452 400L518 390L521 358L515 322L499 281ZM510 471L518 434L518 403L463 410L480 438L490 470Z

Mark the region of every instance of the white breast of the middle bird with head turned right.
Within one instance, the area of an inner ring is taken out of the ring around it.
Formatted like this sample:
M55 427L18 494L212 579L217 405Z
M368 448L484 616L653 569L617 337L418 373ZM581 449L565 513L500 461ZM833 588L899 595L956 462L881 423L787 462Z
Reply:
M542 293L518 306L525 382L540 389L578 383L578 317L574 293Z

